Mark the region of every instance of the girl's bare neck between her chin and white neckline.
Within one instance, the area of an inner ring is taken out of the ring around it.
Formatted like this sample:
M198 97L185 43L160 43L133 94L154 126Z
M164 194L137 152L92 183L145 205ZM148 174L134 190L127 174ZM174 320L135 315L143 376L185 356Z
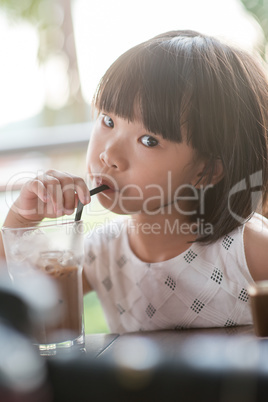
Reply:
M144 262L166 261L187 250L196 239L195 225L186 216L133 215L128 226L129 244Z

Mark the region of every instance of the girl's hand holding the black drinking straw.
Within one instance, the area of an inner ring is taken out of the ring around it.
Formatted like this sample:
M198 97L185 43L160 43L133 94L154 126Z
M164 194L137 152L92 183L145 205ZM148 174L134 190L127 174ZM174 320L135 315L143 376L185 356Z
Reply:
M78 203L90 202L86 183L80 177L57 170L48 170L25 183L12 206L13 219L40 221L71 215Z

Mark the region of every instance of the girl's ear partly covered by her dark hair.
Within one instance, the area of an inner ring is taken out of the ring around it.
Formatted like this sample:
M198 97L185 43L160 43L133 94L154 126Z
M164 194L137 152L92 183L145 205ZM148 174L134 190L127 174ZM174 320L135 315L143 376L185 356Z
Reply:
M223 164L220 158L209 159L203 166L202 171L197 174L197 182L195 188L200 188L204 185L217 184L224 176Z

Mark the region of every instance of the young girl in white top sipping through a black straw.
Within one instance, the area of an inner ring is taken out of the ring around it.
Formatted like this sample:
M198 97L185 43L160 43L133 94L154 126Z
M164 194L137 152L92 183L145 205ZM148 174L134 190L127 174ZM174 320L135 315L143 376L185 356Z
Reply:
M268 279L268 85L260 63L192 31L127 51L102 78L87 157L100 203L122 215L85 240L84 289L113 332L252 323ZM71 214L84 181L28 182L5 225Z

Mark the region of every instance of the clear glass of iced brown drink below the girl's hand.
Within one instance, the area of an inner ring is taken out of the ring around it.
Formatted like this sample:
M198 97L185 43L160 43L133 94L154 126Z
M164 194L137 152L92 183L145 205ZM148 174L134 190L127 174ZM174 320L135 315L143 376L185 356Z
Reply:
M40 354L83 350L83 222L54 220L24 228L3 227L2 235L14 283L25 286L33 273L40 273L49 276L57 288L53 316L41 317L35 325L34 343Z

